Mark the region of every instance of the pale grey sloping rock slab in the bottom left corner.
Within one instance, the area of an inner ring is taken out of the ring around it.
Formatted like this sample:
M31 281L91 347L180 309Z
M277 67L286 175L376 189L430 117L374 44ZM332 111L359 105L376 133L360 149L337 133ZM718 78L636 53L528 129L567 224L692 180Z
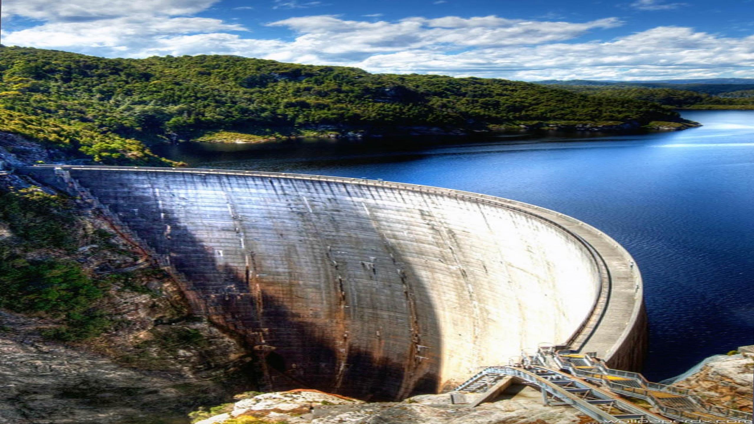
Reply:
M109 358L43 340L33 318L2 313L0 422L78 424L177 418L181 379L119 366ZM173 404L173 403L176 404ZM183 405L186 407L187 405Z

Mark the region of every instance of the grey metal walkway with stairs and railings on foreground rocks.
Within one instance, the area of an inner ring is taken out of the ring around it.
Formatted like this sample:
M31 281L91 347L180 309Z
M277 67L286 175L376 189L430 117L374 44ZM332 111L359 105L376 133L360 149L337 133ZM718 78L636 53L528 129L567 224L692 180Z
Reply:
M544 404L575 407L597 422L752 422L751 413L706 407L688 390L612 370L588 354L554 348L540 348L518 364L487 367L455 390L486 392L505 376L539 389ZM621 396L648 401L659 413Z

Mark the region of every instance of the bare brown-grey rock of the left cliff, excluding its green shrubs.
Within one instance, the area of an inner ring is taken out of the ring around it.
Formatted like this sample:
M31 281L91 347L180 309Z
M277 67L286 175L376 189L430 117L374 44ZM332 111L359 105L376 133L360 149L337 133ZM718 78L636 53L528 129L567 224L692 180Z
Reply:
M8 137L0 134L0 160L12 166L18 158L2 149ZM23 150L25 160L47 158L23 139L10 141L18 142L14 152ZM8 174L0 184L35 182ZM62 343L41 335L60 327L62 317L0 310L0 422L184 424L198 404L248 389L241 344L193 316L175 281L96 212L77 215L78 250L18 252L26 260L75 262L92 278L109 281L92 306L113 325L94 339ZM16 246L2 222L0 240Z

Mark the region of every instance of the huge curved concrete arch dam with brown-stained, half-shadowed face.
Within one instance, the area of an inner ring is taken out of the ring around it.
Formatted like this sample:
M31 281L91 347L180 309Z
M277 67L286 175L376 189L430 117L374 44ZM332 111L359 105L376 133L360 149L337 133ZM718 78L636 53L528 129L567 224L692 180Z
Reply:
M179 275L198 315L255 352L265 389L438 392L568 343L635 367L638 270L571 217L410 184L170 168L41 166Z

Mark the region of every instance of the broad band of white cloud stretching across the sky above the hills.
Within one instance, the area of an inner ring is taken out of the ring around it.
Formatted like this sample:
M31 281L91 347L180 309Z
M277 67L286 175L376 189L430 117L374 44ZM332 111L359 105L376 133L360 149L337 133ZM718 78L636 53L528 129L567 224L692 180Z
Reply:
M74 2L81 5L84 0ZM212 3L161 0L170 6L165 10L174 12ZM526 80L754 77L754 35L733 38L661 26L608 41L578 40L587 32L621 25L616 18L572 23L497 16L387 21L318 15L269 23L294 35L291 40L280 40L248 38L244 26L210 18L133 13L100 18L79 14L72 19L75 13L66 8L48 13L46 23L4 33L5 44L109 57L236 54L358 66L372 72Z

